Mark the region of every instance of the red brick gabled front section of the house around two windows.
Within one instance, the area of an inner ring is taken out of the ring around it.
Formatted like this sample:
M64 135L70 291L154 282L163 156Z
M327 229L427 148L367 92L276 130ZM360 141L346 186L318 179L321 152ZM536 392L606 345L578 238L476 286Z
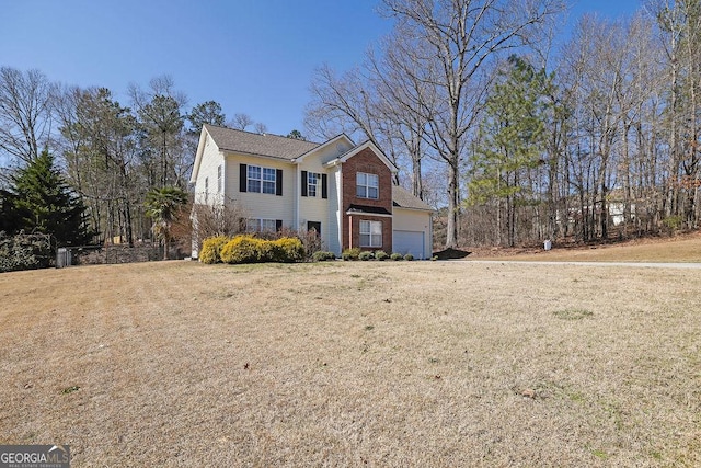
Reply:
M365 172L377 174L379 183L378 199L358 198L356 195L356 174ZM352 204L382 207L392 213L392 172L377 157L375 151L366 148L343 163L343 250L349 246L360 244L360 220L382 221L382 247L364 250L384 250L392 252L392 218L371 215L346 215ZM353 218L353 242L350 242L350 218Z

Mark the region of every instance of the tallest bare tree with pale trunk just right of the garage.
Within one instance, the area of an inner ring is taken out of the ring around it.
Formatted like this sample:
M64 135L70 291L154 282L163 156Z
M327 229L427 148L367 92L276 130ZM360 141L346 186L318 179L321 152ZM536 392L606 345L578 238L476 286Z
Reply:
M538 26L563 11L564 4L560 0L383 3L410 39L403 52L412 66L405 71L430 85L428 103L422 102L417 110L428 124L426 141L448 167L446 247L455 247L461 163L485 89L475 79L501 52L538 41Z

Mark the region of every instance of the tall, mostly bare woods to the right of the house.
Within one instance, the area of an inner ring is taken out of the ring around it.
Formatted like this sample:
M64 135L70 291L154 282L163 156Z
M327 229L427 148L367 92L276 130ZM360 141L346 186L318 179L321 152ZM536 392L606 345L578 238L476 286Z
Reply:
M384 0L392 34L318 70L308 132L374 140L447 247L696 229L701 2L559 32L558 0Z

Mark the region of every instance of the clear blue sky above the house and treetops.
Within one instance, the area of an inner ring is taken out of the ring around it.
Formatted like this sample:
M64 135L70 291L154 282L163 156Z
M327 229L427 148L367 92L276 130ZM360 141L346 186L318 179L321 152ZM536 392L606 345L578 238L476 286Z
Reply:
M572 1L618 18L640 0ZM387 34L377 0L0 0L0 66L51 81L127 88L170 75L189 106L214 100L268 132L303 132L314 68L345 70ZM188 106L188 109L189 109Z

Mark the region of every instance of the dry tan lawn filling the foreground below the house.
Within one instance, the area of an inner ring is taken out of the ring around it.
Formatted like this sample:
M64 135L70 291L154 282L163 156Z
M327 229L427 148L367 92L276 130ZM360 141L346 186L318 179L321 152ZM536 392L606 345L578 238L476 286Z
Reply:
M701 466L701 271L0 275L0 444L72 466Z

